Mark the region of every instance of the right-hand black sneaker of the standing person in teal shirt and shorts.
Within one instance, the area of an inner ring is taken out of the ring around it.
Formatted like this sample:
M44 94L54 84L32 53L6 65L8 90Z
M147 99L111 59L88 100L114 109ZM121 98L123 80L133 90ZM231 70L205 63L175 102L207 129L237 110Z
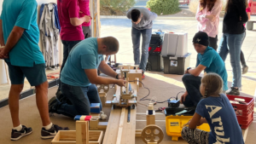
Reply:
M56 124L52 124L51 128L49 130L45 130L42 128L41 130L41 138L42 139L51 139L54 138L55 135L57 135L59 130L68 130L68 128L61 128Z

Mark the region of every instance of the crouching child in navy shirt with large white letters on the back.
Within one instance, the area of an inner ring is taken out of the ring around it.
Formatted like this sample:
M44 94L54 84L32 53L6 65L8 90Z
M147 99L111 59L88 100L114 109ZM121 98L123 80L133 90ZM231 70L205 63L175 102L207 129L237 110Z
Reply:
M222 78L216 73L208 73L201 78L202 99L195 114L182 130L184 141L189 144L230 143L244 144L236 113L226 95L221 94ZM198 130L197 126L207 123L211 132Z

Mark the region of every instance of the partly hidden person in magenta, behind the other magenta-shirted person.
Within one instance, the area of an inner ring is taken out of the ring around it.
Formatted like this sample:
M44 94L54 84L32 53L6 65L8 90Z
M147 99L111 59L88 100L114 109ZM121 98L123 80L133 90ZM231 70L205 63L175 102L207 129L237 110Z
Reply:
M90 7L89 7L90 0L79 0L79 15L83 17L84 15L90 16ZM84 38L91 37L90 35L90 21L84 22L82 24Z

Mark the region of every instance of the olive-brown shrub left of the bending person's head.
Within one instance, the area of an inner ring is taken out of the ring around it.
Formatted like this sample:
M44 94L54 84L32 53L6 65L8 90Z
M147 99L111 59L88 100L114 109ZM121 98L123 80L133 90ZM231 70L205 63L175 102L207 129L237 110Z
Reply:
M101 0L101 14L102 12L115 15L125 14L128 9L134 6L135 0Z

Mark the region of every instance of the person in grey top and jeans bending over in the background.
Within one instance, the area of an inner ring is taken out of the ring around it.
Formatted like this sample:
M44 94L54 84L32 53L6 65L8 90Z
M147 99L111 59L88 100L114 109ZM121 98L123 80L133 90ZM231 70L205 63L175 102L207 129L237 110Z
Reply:
M143 78L145 78L144 72L146 71L146 65L148 61L148 46L151 40L153 20L157 17L157 14L150 12L146 8L131 8L127 14L128 19L131 19L131 38L133 44L133 56L135 65L139 65L139 68L143 70ZM142 46L142 58L140 60L140 40L143 35Z

